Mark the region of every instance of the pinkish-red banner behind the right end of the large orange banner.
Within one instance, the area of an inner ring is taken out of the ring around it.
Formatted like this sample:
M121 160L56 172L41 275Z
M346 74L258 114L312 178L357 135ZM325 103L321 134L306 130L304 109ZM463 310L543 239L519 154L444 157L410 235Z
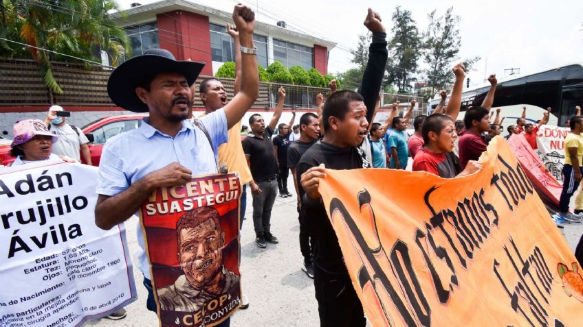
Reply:
M555 180L544 163L540 161L538 154L534 152L525 136L523 134L510 136L508 145L522 165L522 169L525 169L538 195L554 208L558 208L563 186Z

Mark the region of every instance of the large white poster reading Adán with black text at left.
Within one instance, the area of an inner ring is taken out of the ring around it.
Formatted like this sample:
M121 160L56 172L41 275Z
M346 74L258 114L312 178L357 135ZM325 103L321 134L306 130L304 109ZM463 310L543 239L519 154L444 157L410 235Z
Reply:
M97 168L0 169L0 326L79 326L133 302L125 230L95 225Z

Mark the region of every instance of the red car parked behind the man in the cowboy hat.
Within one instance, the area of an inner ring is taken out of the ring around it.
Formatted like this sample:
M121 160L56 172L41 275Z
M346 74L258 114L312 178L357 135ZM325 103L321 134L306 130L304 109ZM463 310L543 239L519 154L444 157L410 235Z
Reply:
M140 127L144 117L148 117L148 114L120 114L118 116L100 118L81 128L85 136L89 138L89 151L91 152L91 162L93 165L99 166L105 141L121 132ZM81 160L85 163L83 156L81 156ZM8 165L12 161L14 161L14 157L10 156L10 143L1 144L0 165Z

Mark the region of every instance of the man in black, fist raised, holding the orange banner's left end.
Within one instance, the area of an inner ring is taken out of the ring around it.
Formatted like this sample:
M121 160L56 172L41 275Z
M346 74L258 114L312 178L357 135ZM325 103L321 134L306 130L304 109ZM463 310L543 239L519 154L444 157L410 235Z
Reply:
M316 234L314 288L320 326L365 326L362 304L352 286L338 239L318 193L324 166L332 169L370 168L360 147L372 120L388 52L379 14L369 8L364 25L373 34L360 94L341 90L330 95L322 110L324 138L312 145L297 165L302 208ZM362 94L362 96L361 96Z

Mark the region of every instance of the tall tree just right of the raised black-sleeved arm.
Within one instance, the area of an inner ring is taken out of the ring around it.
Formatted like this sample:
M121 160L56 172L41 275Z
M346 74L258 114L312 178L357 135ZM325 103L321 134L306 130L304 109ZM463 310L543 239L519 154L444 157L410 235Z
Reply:
M393 37L388 42L386 85L395 85L399 93L410 93L411 84L417 79L417 65L421 56L421 37L417 23L409 10L397 5L393 12Z

